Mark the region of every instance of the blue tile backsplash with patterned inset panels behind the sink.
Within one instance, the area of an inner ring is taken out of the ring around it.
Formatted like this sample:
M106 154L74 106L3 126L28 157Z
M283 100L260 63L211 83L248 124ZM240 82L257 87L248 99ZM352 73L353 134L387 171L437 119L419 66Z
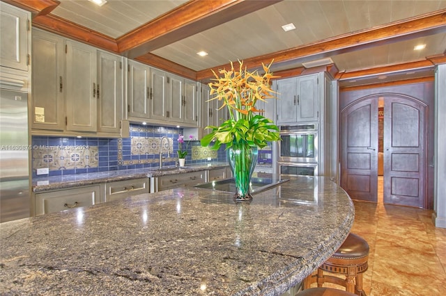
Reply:
M33 177L38 168L48 168L49 176L105 172L144 167L158 167L160 140L163 165L175 165L178 150L178 135L183 129L161 126L130 124L130 138L61 138L49 136L32 137ZM185 139L189 135L184 135ZM173 147L173 149L172 149ZM183 149L186 145L183 145ZM226 161L226 151L220 147L212 151L201 147L199 140L192 140L187 147L186 165Z

